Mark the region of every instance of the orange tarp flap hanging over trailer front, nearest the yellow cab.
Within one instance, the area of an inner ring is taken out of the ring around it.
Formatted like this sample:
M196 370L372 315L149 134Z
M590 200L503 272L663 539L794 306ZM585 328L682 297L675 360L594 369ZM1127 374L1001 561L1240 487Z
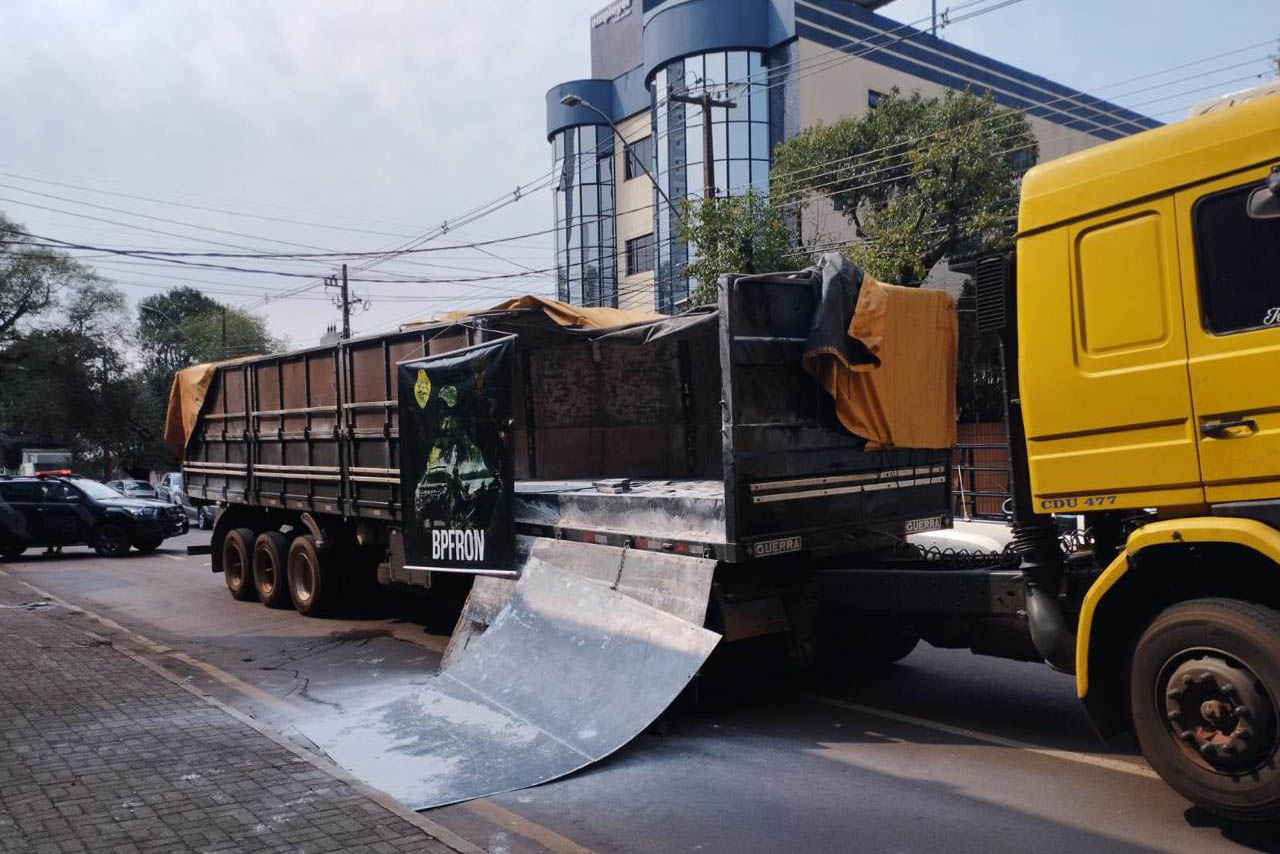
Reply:
M845 429L872 447L952 447L959 323L951 296L864 275L849 337L879 365L852 365L829 350L804 362L836 401Z

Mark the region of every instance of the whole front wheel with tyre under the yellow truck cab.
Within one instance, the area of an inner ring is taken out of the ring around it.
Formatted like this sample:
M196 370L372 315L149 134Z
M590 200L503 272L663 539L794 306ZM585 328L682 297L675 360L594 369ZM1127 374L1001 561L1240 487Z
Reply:
M1143 755L1179 794L1280 818L1280 613L1236 599L1162 611L1134 648L1129 699Z

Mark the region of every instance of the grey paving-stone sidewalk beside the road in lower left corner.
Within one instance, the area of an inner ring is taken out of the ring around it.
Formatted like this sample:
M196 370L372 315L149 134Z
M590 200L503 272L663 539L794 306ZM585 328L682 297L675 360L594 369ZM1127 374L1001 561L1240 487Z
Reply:
M0 851L454 849L0 576Z

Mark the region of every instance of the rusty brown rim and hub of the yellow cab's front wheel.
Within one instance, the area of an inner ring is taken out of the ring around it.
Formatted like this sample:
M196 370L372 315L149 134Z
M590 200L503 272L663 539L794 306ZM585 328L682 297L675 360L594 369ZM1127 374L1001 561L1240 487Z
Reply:
M1275 694L1245 662L1217 649L1189 649L1165 662L1156 707L1169 736L1215 773L1249 773L1280 746Z

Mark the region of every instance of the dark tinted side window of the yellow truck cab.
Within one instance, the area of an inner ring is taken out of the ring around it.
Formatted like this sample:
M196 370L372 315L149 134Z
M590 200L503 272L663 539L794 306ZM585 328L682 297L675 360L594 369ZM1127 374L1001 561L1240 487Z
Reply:
M1280 219L1253 219L1235 187L1196 204L1201 314L1215 335L1280 325Z

